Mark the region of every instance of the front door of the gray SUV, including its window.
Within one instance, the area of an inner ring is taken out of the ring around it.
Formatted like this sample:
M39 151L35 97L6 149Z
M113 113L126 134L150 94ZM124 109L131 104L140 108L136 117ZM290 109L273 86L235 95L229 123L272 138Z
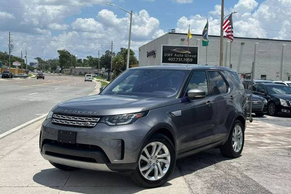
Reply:
M208 74L206 71L195 70L189 81L185 96L190 89L201 89L206 92L202 99L190 100L182 104L180 134L180 153L201 146L211 145L214 138L213 128L213 97L210 96Z

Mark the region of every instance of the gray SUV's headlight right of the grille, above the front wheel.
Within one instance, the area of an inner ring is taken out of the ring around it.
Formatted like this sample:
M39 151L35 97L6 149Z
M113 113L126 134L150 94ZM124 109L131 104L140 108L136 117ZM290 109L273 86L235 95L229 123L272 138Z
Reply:
M148 112L132 113L132 114L118 114L113 116L103 116L100 123L105 123L109 126L128 125L134 123L137 119L146 116Z

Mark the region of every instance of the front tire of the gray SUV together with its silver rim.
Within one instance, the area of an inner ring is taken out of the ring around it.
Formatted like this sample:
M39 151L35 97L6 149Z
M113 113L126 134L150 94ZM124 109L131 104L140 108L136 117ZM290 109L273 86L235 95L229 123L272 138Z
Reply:
M159 146L162 146L158 154L165 155L164 157L159 158L155 153L153 154L151 153L152 152L151 150L153 148L152 145L154 144L156 144L156 150L159 148ZM148 150L148 148L151 149ZM145 149L147 150L149 157L146 156L146 152L144 151ZM150 156L150 154L152 154L152 156ZM146 162L145 159L148 162ZM160 160L163 160L164 162ZM176 152L173 143L166 136L162 134L155 134L142 147L138 157L138 166L132 172L131 178L135 183L142 187L147 188L159 187L171 177L175 170L175 166L176 166ZM140 167L147 168L141 171ZM159 169L161 169L162 171ZM148 171L149 173L147 173ZM155 172L157 172L158 174L156 175ZM161 174L161 172L163 175Z

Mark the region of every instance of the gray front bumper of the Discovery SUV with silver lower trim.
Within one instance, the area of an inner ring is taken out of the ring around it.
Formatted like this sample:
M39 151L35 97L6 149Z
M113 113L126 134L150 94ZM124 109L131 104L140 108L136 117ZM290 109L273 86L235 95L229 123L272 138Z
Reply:
M59 143L58 130L76 131L76 144ZM46 160L100 171L130 171L150 127L137 120L123 126L98 123L94 128L52 124L46 119L40 133L40 152Z

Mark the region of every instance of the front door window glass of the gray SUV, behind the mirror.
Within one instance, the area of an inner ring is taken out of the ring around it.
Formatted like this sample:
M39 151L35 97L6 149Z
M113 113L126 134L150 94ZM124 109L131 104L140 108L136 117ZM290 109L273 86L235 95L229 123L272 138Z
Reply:
M206 71L193 72L193 75L187 86L187 92L191 89L200 89L206 93L206 96L209 95Z

